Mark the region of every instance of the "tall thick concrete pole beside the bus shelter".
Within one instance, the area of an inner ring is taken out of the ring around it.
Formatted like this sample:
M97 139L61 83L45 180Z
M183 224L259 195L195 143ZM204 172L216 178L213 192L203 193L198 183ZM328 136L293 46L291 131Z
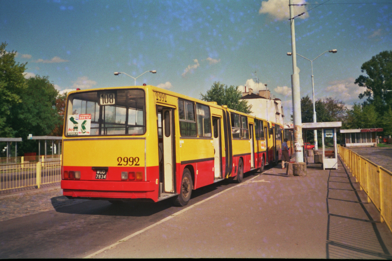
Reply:
M303 140L302 140L302 119L301 119L301 93L299 90L299 74L297 67L297 54L295 46L294 10L293 0L289 0L290 7L290 27L291 27L291 52L293 61L293 74L291 75L291 91L293 103L293 123L294 123L294 154L296 162L303 162Z

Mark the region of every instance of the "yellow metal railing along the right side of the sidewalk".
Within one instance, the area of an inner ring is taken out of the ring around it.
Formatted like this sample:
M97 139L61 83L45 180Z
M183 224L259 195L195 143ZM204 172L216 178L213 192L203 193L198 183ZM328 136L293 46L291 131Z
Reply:
M380 211L381 222L392 231L392 173L340 145L338 153L368 195L368 202Z

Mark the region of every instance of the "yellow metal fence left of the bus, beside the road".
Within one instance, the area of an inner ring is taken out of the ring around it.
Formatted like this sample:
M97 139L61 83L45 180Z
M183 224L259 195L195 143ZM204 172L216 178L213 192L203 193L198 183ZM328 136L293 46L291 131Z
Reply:
M60 182L61 163L61 155L0 158L0 191Z

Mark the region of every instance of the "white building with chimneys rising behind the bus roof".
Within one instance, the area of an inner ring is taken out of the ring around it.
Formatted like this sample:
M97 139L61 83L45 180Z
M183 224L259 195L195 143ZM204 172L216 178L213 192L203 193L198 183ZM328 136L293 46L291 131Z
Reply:
M283 124L285 115L283 115L282 101L275 98L275 95L271 95L270 90L262 90L254 94L250 88L242 93L241 99L246 99L248 104L252 105L250 115Z

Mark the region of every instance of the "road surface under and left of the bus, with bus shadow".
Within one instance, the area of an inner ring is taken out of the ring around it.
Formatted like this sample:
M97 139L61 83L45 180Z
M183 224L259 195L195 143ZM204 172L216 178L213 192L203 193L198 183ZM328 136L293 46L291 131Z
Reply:
M245 174L243 180L251 178ZM188 205L236 184L218 182L196 191ZM170 200L113 205L68 200L59 187L0 198L0 258L80 258L181 210Z

